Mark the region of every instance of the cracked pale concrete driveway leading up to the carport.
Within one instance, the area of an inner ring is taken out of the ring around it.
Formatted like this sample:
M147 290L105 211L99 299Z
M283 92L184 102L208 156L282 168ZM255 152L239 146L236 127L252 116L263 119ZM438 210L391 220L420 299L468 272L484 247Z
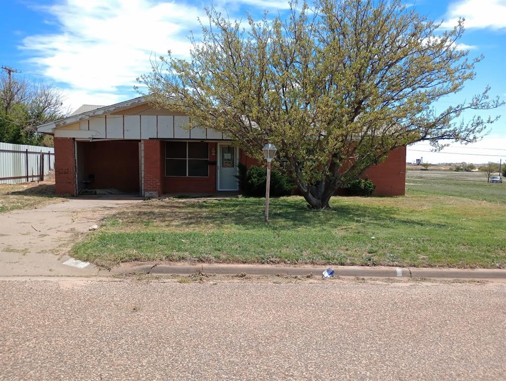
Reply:
M70 259L73 242L118 208L139 197L73 198L37 209L0 214L0 276L96 275L92 264L78 268Z

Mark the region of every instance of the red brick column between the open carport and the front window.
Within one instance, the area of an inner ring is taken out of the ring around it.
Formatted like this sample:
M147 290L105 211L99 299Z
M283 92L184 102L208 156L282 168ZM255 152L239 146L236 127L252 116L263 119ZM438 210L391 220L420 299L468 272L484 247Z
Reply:
M147 139L144 143L144 197L158 197L163 193L162 142Z

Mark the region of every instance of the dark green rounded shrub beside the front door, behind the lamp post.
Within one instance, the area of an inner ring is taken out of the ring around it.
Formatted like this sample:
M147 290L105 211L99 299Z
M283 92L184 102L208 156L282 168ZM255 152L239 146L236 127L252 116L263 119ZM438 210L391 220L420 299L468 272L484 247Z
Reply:
M241 171L241 168L239 168L239 171ZM243 178L240 176L239 172L239 183L241 184L241 189L246 196L265 196L265 186L267 182L266 168L252 165L245 172ZM274 169L271 170L270 195L272 197L289 196L293 193L294 189L295 185L293 185L293 181L289 177L282 175L279 171Z

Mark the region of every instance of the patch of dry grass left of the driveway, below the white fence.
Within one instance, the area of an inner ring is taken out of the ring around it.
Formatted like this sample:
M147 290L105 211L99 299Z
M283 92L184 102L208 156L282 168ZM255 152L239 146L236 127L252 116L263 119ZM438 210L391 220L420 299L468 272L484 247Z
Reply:
M0 213L16 209L33 209L65 201L55 194L55 182L0 184Z

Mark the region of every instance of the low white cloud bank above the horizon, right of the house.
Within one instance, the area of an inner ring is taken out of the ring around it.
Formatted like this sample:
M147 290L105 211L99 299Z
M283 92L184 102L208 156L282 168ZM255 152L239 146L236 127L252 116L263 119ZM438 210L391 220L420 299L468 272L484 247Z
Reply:
M459 163L462 161L480 164L488 161L506 162L506 133L503 135L489 135L474 144L462 145L451 144L440 152L430 151L428 142L416 143L407 148L406 161L412 162L420 157L424 162L437 163Z

